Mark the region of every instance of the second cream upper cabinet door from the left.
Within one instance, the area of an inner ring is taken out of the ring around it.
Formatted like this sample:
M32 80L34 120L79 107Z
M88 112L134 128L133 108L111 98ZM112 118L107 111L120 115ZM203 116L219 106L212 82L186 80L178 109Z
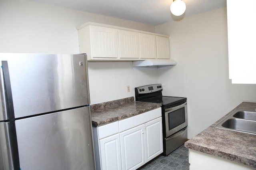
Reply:
M139 58L139 33L118 30L120 58Z

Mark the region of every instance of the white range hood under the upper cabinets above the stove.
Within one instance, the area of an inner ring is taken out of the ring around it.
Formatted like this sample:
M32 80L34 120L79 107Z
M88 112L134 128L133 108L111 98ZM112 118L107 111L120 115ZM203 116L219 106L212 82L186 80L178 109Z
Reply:
M148 59L142 61L133 61L134 67L146 67L146 66L163 66L163 65L176 65L177 62L171 59Z

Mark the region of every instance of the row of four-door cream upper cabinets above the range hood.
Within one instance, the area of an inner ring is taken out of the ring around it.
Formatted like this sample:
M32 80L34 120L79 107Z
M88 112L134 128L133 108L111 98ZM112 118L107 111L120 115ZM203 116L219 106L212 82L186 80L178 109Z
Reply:
M79 53L88 60L170 59L169 36L92 22L77 30Z

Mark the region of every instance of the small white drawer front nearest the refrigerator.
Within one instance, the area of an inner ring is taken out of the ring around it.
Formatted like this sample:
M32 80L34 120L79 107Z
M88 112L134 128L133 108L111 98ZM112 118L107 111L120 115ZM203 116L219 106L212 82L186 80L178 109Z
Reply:
M99 139L106 138L118 132L119 132L118 122L113 122L113 123L98 127Z

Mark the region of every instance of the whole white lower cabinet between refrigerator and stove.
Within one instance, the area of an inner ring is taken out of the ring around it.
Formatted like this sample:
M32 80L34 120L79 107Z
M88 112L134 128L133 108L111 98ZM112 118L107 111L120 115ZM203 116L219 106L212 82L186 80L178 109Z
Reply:
M163 152L161 108L93 127L97 170L136 170Z

